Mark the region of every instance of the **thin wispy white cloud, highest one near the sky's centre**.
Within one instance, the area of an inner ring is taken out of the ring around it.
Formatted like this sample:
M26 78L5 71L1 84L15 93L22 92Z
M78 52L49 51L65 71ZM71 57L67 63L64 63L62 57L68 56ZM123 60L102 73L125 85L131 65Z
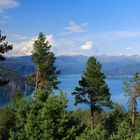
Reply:
M85 32L85 27L88 26L88 23L82 23L81 25L76 24L75 22L71 21L67 27L64 28L64 32L61 33L62 35L71 34L71 33L81 33Z

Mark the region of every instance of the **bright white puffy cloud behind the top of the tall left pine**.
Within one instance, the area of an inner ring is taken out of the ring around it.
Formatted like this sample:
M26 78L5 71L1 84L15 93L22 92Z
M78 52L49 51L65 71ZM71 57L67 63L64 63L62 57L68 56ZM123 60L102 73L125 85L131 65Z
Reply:
M31 55L33 50L33 43L37 39L37 37L31 38L28 41L24 41L21 43L13 43L13 50L8 52L8 56L24 56ZM46 36L46 40L52 45L53 44L53 35Z

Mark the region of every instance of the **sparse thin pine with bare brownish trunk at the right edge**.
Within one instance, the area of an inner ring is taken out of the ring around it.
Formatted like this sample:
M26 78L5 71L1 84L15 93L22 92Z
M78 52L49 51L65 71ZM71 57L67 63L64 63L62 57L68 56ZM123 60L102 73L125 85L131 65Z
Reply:
M140 99L140 74L134 74L133 79L125 82L124 86L124 90L126 92L125 95L129 97L128 105L131 113L131 122L133 127L135 127L137 115L137 99Z

